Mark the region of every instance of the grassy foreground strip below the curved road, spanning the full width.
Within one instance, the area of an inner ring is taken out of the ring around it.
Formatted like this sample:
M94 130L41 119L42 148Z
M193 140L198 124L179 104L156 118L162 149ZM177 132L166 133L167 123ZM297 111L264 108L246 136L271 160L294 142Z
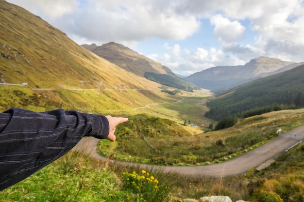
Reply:
M277 202L263 199L264 195L270 195L279 196L284 202L303 202L303 162L304 144L301 143L258 173L249 171L246 175L230 178L191 179L176 174L146 171L150 172L149 178L154 183L145 185L143 180L137 179L138 176L147 177L139 168L117 167L69 152L26 180L2 190L0 201L182 202L185 198L225 195L232 201ZM136 186L127 184L126 176ZM155 179L158 182L156 190ZM138 190L137 186L146 187ZM157 200L156 196L159 197Z

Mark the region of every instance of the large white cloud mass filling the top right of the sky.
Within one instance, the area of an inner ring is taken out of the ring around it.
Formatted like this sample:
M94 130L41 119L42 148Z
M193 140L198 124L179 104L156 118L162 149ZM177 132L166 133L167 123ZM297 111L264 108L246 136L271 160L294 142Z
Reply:
M244 49L248 57L264 54L296 62L304 61L301 55L304 51L303 0L182 0L176 11L210 18L210 22L216 26L214 35L219 37L224 51ZM238 39L244 34L242 27L237 23L231 24L245 19L250 22L247 29L252 29L255 37L259 38L253 44L240 44ZM229 30L229 27L236 30ZM245 54L241 55L245 58Z

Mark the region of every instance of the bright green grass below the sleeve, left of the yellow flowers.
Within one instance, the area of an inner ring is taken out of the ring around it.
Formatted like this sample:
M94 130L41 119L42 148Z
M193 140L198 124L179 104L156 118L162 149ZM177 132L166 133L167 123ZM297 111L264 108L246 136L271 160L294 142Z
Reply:
M37 183L39 182L39 183ZM118 177L76 153L68 153L23 182L1 191L0 201L10 202L101 202L132 201L119 189Z

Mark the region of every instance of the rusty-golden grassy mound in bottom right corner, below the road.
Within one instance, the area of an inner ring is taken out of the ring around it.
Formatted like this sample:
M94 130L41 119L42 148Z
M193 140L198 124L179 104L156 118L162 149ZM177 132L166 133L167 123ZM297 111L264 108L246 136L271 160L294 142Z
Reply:
M281 155L270 167L255 173L249 186L252 199L260 200L260 192L275 193L284 202L304 201L304 143Z

